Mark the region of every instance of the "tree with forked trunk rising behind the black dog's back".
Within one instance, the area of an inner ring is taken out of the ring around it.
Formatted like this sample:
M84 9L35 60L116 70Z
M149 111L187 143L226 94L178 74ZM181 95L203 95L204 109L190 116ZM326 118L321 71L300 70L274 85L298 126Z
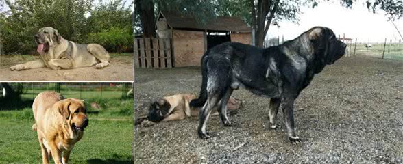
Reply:
M300 7L307 5L315 8L321 0L221 0L215 5L216 13L221 16L239 16L256 30L256 46L263 46L263 41L271 25L279 25L282 20L298 22ZM341 0L341 5L351 8L354 1ZM249 4L249 8L245 4ZM367 8L372 12L384 10L389 19L403 16L403 2L390 0L368 0Z

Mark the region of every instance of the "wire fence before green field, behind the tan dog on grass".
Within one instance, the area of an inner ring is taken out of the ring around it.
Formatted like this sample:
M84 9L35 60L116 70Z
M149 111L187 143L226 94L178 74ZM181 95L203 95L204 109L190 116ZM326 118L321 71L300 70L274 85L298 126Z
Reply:
M21 98L34 99L40 92L55 91L65 98L130 98L132 83L11 83ZM3 88L1 88L3 90Z

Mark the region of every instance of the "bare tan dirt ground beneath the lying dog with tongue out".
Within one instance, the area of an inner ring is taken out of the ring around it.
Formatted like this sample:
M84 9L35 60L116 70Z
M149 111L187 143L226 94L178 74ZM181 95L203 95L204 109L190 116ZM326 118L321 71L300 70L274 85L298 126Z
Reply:
M95 66L72 70L36 68L11 71L9 69L10 66L32 59L38 59L38 57L1 56L0 81L133 81L133 57L131 56L112 57L110 66L103 69L97 69Z

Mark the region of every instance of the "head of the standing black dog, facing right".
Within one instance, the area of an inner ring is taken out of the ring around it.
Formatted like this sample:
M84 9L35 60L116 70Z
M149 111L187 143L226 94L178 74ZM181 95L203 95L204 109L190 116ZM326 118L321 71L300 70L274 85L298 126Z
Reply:
M341 42L327 27L313 27L308 31L308 38L313 42L315 55L324 59L323 64L334 64L344 53L347 44Z

